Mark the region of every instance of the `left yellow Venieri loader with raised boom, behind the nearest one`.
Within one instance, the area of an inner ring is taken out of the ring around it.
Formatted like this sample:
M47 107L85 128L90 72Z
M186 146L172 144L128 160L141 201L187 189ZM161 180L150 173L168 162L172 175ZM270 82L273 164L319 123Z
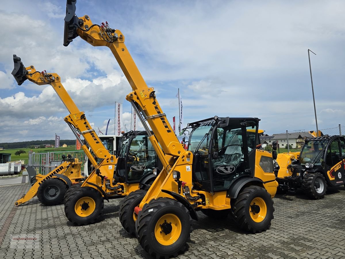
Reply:
M131 131L124 135L123 147L119 150L119 160L103 146L100 138L79 111L57 74L36 71L33 66L24 67L21 59L13 55L13 76L18 85L26 79L38 85L49 84L58 94L70 112L65 122L71 128L80 143L80 135L90 146L96 162L86 144L82 150L86 153L95 170L82 183L71 186L65 194L65 213L68 220L77 225L95 222L103 209L103 199L120 198L138 189L147 189L160 171L156 153L148 141L146 132ZM120 162L115 169L117 162ZM116 171L115 171L116 170ZM80 167L79 167L80 172ZM117 172L117 174L115 173ZM62 178L54 174L53 177ZM84 179L83 179L84 180Z

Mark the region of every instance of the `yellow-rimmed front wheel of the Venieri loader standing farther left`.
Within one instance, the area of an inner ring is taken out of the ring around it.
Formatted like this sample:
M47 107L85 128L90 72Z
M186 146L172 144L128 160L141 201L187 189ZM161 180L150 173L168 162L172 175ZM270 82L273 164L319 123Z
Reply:
M98 221L103 207L103 197L96 189L81 187L68 196L65 214L67 219L77 226L88 225Z

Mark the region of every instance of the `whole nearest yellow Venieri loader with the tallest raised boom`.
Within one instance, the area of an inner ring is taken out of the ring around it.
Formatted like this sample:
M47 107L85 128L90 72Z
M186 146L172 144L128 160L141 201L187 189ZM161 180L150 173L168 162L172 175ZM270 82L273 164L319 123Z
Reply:
M215 116L195 122L191 124L189 149L184 150L154 88L147 87L130 56L123 33L107 22L93 24L88 15L77 17L75 11L76 1L67 0L63 45L80 36L92 46L110 48L133 89L126 99L163 164L146 193L134 191L122 200L119 213L125 229L132 231L135 221L133 232L139 243L157 258L177 256L185 249L191 220L198 219L196 210L230 210L243 229L254 233L266 230L273 219L271 198L278 183L272 154L248 143L247 130L255 130L257 136L259 119Z

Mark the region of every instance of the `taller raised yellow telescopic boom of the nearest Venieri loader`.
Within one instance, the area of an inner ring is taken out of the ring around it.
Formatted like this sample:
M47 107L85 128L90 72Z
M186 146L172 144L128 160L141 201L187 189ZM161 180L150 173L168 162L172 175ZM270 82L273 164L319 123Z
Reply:
M146 203L146 199L161 196L173 196L180 202L187 202L183 193L181 193L181 185L183 183L184 186L189 186L190 189L192 187L191 165L193 154L190 151L185 151L183 145L179 143L165 113L162 112L154 88L147 86L129 54L125 46L125 36L121 31L112 29L108 22L102 22L101 25L93 24L88 15L77 17L75 11L76 0L67 0L63 45L68 46L74 38L80 36L92 46L107 46L110 48L133 89L126 96L126 99L139 115L140 121L149 135L149 140L163 164L164 170L151 185L144 200L140 203L140 208ZM151 134L146 122L151 127L154 135ZM172 178L173 171L180 173L184 182L175 181ZM171 184L174 185L174 191L169 191L169 194L164 193L165 190L171 189ZM197 199L197 197L194 199ZM195 212L192 212L191 216L197 219Z

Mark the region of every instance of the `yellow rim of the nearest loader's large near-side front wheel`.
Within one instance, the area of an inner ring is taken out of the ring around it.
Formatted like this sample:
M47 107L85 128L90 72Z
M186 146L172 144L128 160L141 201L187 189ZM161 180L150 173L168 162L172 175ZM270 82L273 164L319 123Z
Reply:
M160 244L169 246L180 237L181 230L180 219L175 214L165 214L156 223L155 237Z

